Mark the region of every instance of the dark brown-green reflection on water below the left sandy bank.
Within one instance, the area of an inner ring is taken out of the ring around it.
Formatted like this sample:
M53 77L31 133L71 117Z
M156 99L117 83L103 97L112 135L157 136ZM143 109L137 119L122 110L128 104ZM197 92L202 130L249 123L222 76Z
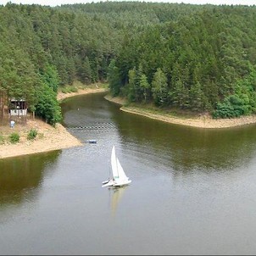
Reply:
M39 153L0 161L0 209L36 198L47 165L53 164L59 151Z

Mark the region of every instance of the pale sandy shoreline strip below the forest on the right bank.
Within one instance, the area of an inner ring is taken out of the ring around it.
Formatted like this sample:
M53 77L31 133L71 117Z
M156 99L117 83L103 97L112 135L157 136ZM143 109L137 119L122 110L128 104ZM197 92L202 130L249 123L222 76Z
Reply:
M118 103L122 105L120 110L129 112L132 114L140 114L143 116L146 116L148 118L154 119L154 120L162 120L164 122L168 122L171 124L176 125L188 125L198 128L211 128L211 129L220 129L220 128L229 128L229 127L235 127L240 125L249 125L249 124L255 124L256 123L256 115L251 116L244 116L241 118L234 118L234 119L221 119L221 120L214 120L209 115L201 115L200 117L195 118L181 118L181 117L175 117L171 114L158 114L156 111L150 111L148 109L140 109L135 107L129 107L125 106L124 99L120 97L110 97L107 95L105 97L107 100Z

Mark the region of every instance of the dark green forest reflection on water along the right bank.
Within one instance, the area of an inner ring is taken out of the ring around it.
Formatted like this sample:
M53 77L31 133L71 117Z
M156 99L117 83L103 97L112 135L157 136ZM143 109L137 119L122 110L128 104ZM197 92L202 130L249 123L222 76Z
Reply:
M142 116L113 115L125 147L141 157L159 159L175 172L234 170L248 164L256 151L255 125L200 129L166 124Z

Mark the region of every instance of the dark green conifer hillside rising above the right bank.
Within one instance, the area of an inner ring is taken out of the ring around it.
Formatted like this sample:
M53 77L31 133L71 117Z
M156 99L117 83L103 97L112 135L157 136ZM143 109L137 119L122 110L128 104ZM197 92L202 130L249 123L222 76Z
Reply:
M163 6L159 5L161 11ZM252 113L252 109L255 109L254 94L239 94L236 87L237 80L245 80L256 64L256 58L248 54L255 53L252 50L252 47L256 47L253 33L255 16L248 17L247 14L255 14L255 8L183 7L184 12L181 13L181 9L177 8L179 19L175 19L175 16L169 22L145 26L142 31L125 40L116 66L122 70L120 87L128 84L130 90L122 92L136 102L145 101L142 97L143 86L137 86L136 82L136 77L140 77L137 76L139 69L135 78L131 79L129 68L142 64L141 75L147 77L148 87L151 88L147 92L147 100L152 100L158 106L175 106L196 112L219 108L227 116ZM189 15L189 12L193 15ZM166 13L168 10L163 12ZM161 20L166 20L166 17ZM236 27L232 24L236 24ZM166 84L163 83L166 86L163 87L154 76L155 70L159 69L166 75ZM254 86L255 74L251 72L250 83ZM231 96L235 94L242 103L234 102ZM249 103L246 103L245 95ZM222 99L226 97L231 98L223 103Z

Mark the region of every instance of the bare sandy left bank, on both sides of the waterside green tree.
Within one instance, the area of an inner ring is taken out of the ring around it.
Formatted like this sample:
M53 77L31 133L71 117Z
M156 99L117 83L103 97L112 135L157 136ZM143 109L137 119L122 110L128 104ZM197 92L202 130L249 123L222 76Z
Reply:
M80 89L78 92L60 92L57 98L58 101L61 101L66 97L105 91L106 89L104 88L86 88L85 90ZM36 139L33 141L27 140L27 135L31 129L36 129L38 132ZM32 120L30 118L25 125L16 124L13 129L8 126L0 125L0 135L5 138L12 132L19 133L19 142L16 144L9 142L0 144L0 159L83 145L75 136L72 136L70 132L66 131L63 125L56 124L56 126L53 127L39 119Z

